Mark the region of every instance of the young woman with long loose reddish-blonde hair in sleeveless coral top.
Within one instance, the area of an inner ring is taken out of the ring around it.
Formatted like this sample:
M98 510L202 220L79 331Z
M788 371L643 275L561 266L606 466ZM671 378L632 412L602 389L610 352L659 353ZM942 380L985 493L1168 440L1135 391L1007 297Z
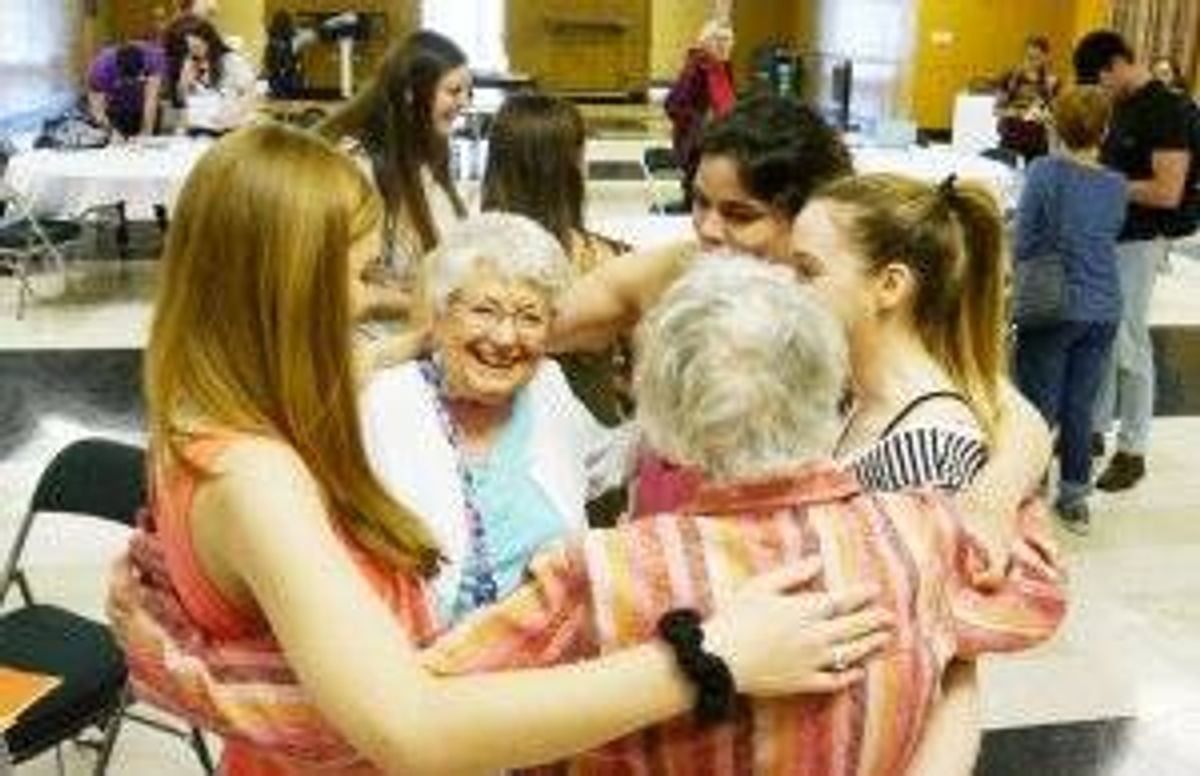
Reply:
M270 675L294 673L300 685L283 698L288 734L299 726L310 747L348 744L356 759L341 774L533 765L686 712L694 687L665 643L520 673L454 679L424 667L418 645L438 628L426 582L440 553L370 474L352 368L383 218L354 162L280 126L228 136L188 178L146 351L151 501L131 549L161 546L146 573L166 579L174 624L217 652L277 644L282 664L270 662ZM116 600L136 584L128 569L116 570ZM830 633L858 644L886 618L864 608L872 595L863 589L788 594L816 571L806 563L760 577L704 622L706 648L738 692L828 692L862 679L859 658L827 673L828 648L815 644ZM127 633L121 609L110 603L110 613ZM148 676L134 669L152 687ZM269 685L256 685L247 724L263 723ZM316 721L300 715L306 703ZM312 772L254 740L232 736L221 772Z

